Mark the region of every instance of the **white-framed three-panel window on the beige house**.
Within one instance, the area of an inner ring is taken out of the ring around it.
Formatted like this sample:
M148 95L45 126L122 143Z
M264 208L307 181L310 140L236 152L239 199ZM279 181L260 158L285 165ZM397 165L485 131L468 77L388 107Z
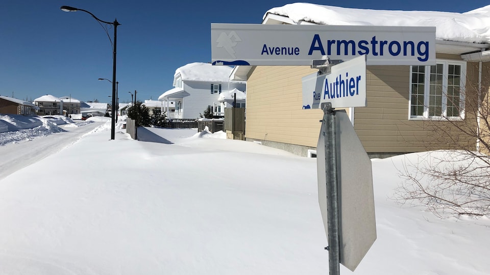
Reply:
M410 67L410 119L463 119L466 63Z

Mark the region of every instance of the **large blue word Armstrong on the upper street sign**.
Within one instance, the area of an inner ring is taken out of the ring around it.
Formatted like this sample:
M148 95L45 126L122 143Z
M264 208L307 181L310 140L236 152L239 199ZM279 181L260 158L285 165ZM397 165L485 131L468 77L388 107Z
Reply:
M376 36L371 38L371 41L359 40L357 43L354 40L327 40L325 48L320 35L313 35L311 40L308 56L314 52L319 52L322 56L330 56L332 52L337 56L355 56L356 54L372 54L373 56L412 56L425 62L429 60L429 41L386 41L378 40ZM274 48L268 48L264 44L262 54L271 52ZM299 53L299 49L298 49ZM267 53L268 54L268 53ZM284 55L284 54L283 54Z

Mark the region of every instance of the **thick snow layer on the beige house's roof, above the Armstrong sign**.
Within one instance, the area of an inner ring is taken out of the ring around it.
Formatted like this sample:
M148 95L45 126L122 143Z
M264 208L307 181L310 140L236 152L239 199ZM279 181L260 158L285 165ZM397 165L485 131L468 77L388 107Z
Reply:
M293 22L322 25L435 26L436 39L469 43L490 42L490 5L465 13L352 9L293 3L264 14L286 16Z

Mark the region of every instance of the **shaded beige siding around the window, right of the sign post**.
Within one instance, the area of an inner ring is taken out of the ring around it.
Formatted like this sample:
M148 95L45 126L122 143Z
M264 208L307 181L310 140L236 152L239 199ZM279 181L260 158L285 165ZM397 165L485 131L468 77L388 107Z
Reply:
M468 93L473 73L467 72ZM354 128L365 150L405 153L451 149L462 144L474 149L475 142L455 127L471 124L474 121L471 114L466 114L464 122L408 119L409 77L409 66L367 67L367 107L356 108L354 116Z

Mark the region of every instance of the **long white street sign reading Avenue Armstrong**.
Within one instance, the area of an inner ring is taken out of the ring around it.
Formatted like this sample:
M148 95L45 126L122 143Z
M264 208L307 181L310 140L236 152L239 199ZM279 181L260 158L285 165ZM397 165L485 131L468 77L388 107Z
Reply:
M367 65L435 65L435 27L211 24L213 65L308 65L328 56Z

